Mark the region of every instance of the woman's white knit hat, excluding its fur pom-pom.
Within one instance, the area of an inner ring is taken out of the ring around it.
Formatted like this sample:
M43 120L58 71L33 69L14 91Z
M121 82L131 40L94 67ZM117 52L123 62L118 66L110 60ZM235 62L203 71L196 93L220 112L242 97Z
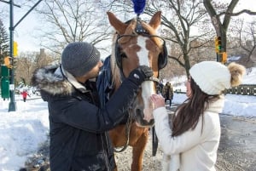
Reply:
M216 61L203 61L192 66L190 76L206 94L221 94L230 88L231 74L227 66Z

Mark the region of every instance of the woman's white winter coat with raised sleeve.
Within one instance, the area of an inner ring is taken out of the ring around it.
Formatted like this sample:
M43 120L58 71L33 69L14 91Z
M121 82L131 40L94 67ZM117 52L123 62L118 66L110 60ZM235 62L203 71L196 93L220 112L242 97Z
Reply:
M169 171L215 171L217 150L220 139L219 116L224 107L224 96L212 102L200 117L194 130L172 137L168 114L165 107L154 110L155 131L164 151L164 162ZM201 129L203 123L203 129ZM171 162L168 157L171 156ZM165 162L166 161L166 162ZM175 168L175 169L173 169ZM166 170L166 169L165 169Z

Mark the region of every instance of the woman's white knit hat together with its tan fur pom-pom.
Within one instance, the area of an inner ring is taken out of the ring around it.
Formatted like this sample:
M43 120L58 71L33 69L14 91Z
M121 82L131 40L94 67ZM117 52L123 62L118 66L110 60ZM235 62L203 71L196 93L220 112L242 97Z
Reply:
M189 73L204 93L215 95L225 88L238 86L245 67L236 63L227 67L216 61L203 61L192 66Z

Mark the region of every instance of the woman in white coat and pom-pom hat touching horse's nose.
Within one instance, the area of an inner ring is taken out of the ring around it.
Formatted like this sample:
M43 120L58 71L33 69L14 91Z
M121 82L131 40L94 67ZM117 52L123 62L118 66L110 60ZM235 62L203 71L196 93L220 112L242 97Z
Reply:
M220 139L218 113L224 108L222 92L241 83L245 68L236 63L224 66L215 61L203 61L192 66L189 73L188 99L178 106L172 118L172 129L165 99L158 94L151 96L155 130L164 159L171 156L165 170L215 171Z

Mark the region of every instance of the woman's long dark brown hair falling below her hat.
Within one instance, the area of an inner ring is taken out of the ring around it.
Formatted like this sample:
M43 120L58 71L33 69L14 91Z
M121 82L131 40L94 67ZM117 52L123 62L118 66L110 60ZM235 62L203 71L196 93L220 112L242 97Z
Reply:
M201 88L199 88L192 77L190 80L190 87L191 97L177 107L177 113L173 116L172 136L183 134L190 128L193 130L197 125L199 118L208 107L209 102L218 99L218 95L208 95L202 92ZM202 117L204 116L202 115Z

